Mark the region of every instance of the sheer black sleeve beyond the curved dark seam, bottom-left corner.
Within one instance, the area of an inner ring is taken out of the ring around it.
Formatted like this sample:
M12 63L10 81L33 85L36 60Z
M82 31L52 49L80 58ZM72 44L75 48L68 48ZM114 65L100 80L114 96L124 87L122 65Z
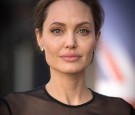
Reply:
M0 98L0 115L12 115L8 102L3 98Z

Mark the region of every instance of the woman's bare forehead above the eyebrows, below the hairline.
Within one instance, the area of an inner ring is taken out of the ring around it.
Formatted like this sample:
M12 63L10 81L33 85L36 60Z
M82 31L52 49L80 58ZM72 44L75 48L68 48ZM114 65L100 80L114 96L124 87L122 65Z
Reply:
M56 0L48 8L46 21L93 21L90 8L80 0Z

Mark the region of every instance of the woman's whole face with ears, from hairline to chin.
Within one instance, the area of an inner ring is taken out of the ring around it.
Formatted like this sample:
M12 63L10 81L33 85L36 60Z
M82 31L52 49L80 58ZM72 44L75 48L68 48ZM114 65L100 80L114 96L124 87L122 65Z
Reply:
M62 73L84 71L92 60L99 37L95 36L89 7L79 0L52 3L42 35L36 30L36 36L50 69Z

